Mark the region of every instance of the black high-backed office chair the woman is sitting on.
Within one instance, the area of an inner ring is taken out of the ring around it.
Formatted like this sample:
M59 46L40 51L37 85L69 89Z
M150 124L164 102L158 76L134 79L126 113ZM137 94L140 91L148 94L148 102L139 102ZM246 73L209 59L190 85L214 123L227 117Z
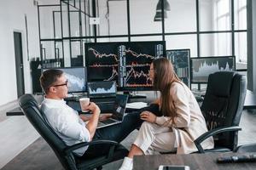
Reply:
M200 153L236 150L246 92L247 79L236 72L219 71L209 76L207 93L201 105L209 131L195 139L195 146ZM203 150L201 142L211 136L214 148Z

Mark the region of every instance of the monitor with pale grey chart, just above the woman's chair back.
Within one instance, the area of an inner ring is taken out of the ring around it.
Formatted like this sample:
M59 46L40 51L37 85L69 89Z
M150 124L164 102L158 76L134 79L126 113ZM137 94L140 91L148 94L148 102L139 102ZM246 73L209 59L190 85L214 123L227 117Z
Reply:
M211 73L216 71L236 71L235 56L191 58L191 82L207 83Z

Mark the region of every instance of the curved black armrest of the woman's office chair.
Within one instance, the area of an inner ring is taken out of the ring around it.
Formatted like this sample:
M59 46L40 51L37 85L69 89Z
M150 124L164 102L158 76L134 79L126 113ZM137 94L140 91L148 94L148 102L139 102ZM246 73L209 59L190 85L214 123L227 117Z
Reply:
M195 146L196 148L198 149L198 151L200 153L205 153L205 150L202 148L201 146L201 143L215 135L215 134L218 134L218 133L225 133L225 132L230 132L230 131L240 131L241 130L241 127L238 127L238 126L233 126L233 127L218 127L218 128L215 128L215 129L212 129L210 131L208 131L207 133L203 133L200 137L198 137L197 139L195 139L194 143L195 143Z

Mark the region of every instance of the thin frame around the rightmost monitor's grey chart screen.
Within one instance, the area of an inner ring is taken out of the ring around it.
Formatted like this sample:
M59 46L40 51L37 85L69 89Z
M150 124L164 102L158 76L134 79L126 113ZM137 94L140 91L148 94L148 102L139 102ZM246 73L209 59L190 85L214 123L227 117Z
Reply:
M236 56L235 55L223 55L223 56L207 56L207 57L191 57L190 58L190 83L197 83L197 84L207 84L208 80L206 82L196 82L193 81L193 68L192 68L192 60L193 59L222 59L222 58L233 58L233 65L234 69L236 71Z

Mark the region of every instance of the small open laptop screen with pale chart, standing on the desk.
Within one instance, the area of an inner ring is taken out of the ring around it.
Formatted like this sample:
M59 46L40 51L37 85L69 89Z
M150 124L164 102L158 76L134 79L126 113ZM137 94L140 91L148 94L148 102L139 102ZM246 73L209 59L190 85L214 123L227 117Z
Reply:
M87 82L89 98L115 98L117 89L115 81Z

